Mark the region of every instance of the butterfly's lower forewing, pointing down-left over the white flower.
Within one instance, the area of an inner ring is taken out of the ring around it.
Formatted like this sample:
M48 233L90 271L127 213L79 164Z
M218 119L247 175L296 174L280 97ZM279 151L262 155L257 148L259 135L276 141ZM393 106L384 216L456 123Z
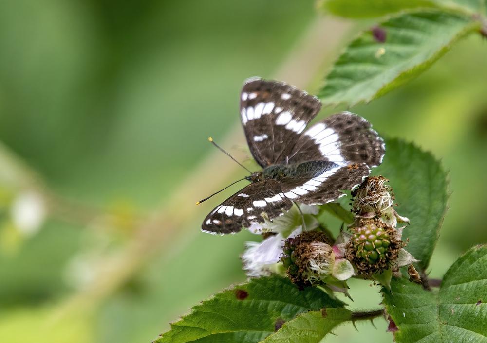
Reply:
M293 203L281 196L281 185L268 179L252 183L215 207L203 221L203 231L235 233L252 223L262 223L262 212L275 218L289 210Z

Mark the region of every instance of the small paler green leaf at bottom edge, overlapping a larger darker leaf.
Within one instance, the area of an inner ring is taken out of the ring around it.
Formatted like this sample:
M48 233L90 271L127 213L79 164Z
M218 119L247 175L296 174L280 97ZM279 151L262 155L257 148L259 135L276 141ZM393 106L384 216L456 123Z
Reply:
M264 340L264 343L320 342L335 326L352 320L348 309L323 309L300 314Z

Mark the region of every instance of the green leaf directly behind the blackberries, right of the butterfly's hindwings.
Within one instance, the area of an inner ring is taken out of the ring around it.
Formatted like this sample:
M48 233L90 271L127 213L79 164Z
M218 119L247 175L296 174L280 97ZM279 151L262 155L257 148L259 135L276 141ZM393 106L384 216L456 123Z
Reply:
M398 139L386 139L384 161L373 173L389 179L399 204L395 210L411 221L402 240L409 238L406 250L424 270L447 208L447 173L430 153Z

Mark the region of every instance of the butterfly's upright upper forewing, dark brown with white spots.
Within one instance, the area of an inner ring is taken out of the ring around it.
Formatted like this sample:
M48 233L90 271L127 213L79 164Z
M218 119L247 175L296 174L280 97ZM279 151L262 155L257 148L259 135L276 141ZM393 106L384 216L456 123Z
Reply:
M281 82L245 82L240 113L250 152L262 167L285 164L293 144L321 108L317 97Z

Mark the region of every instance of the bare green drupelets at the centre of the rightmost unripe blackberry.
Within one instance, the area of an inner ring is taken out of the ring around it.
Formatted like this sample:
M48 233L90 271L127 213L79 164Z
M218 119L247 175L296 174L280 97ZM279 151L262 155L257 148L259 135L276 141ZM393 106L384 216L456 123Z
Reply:
M390 240L388 233L375 224L366 224L355 229L352 237L356 257L369 264L386 259Z

